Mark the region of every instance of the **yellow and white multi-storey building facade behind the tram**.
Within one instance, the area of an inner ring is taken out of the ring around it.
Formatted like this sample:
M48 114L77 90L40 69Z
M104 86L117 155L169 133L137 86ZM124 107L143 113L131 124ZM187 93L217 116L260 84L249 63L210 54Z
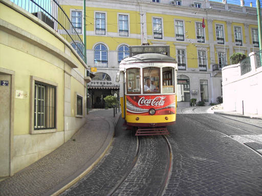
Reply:
M82 32L82 1L59 4ZM119 62L130 45L141 44L170 45L179 63L178 106L189 106L192 98L214 103L222 96L222 67L233 53L258 51L257 32L252 7L202 0L86 1L87 62L97 67L88 86L90 107L102 107L103 97L118 90Z

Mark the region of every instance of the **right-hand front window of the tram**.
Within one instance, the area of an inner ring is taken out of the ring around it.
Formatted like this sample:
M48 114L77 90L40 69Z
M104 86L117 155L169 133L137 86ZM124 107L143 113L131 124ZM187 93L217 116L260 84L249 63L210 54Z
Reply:
M174 93L174 68L163 67L162 69L162 82L163 93Z

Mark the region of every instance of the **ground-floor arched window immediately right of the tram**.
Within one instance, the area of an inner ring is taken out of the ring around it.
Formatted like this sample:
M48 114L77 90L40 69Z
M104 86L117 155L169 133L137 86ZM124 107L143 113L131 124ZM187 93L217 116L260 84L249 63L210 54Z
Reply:
M190 102L190 84L187 76L178 76L178 102Z

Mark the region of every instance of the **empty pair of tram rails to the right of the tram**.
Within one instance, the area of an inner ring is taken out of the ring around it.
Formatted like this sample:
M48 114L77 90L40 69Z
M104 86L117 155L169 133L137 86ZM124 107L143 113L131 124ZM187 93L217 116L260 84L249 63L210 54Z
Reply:
M193 112L195 112L195 111L193 111ZM181 110L181 113L182 113L182 114L185 114L185 113L183 112L183 110ZM195 113L197 114L197 112L195 112ZM202 125L210 128L210 129L212 129L212 130L214 130L214 131L218 131L218 132L220 132L221 134L223 134L224 136L229 137L229 138L237 141L238 143L243 144L244 146L246 146L246 148L248 148L249 150L253 151L253 152L254 152L255 154L257 154L260 158L262 158L262 153L259 152L259 151L257 151L256 149L254 149L251 145L249 145L249 144L247 144L247 143L245 143L245 142L243 142L243 143L242 143L242 142L239 142L239 141L236 140L234 137L232 137L232 135L226 134L226 133L224 133L223 131L221 131L221 130L219 130L219 129L215 129L215 128L213 128L212 126L209 126L208 124L206 124L205 122L202 122L202 121L200 121L200 120L198 120L198 119L192 118L192 117L188 116L187 114L185 114L185 115L186 115L187 118L192 119L192 120L195 120L195 121L198 121L200 124L202 124ZM207 118L208 118L208 117L207 117ZM213 121L216 121L216 122L219 122L219 123L222 123L222 124L224 124L224 125L226 125L226 126L229 126L229 127L231 127L231 128L234 128L234 129L238 129L238 130L247 132L247 133L249 133L249 134L251 134L251 135L259 136L259 135L257 135L257 134L252 133L252 132L249 132L249 131L246 131L246 130L242 130L242 129L239 129L239 128L237 128L237 127L234 127L234 126L225 124L224 122L221 122L221 121L219 121L219 120L214 120L214 119L212 119L212 118L208 118L208 119L213 120ZM238 121L238 120L237 120L237 121ZM250 124L248 124L248 125L250 125Z

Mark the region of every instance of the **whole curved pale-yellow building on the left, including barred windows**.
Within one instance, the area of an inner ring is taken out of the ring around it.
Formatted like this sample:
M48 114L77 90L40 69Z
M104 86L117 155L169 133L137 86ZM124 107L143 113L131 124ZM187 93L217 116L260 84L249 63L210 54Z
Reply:
M58 148L87 117L88 66L35 13L0 1L0 177Z

